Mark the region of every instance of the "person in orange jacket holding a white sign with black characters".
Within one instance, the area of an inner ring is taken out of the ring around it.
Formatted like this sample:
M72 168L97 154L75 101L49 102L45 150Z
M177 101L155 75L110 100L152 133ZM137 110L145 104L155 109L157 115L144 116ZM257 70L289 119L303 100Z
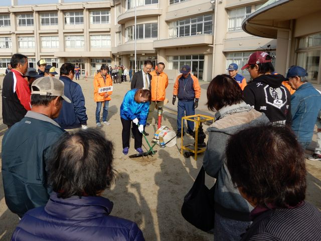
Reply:
M100 67L100 72L94 77L94 101L97 103L96 125L98 127L101 127L100 109L102 104L104 104L104 107L103 107L104 109L102 111L102 122L105 125L110 125L110 123L107 122L107 115L108 115L108 105L109 105L109 101L111 100L110 96L112 94L112 91L99 93L99 88L112 86L112 79L110 75L107 75L107 68L108 68L107 65L102 64Z

